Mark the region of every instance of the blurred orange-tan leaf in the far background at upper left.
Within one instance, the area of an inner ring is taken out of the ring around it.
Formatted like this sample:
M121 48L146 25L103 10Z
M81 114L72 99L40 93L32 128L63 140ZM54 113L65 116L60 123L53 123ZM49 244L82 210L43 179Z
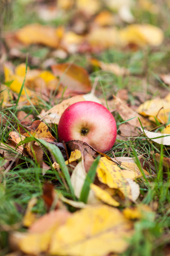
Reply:
M57 29L41 24L29 24L19 29L16 37L23 44L44 44L56 48L59 44Z

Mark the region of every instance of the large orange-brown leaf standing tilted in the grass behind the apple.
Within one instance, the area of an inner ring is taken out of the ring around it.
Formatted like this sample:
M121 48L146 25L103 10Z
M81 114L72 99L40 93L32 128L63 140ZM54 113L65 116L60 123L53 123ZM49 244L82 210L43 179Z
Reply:
M51 66L53 74L60 77L60 82L68 89L77 93L91 91L91 82L87 71L73 63L63 63Z

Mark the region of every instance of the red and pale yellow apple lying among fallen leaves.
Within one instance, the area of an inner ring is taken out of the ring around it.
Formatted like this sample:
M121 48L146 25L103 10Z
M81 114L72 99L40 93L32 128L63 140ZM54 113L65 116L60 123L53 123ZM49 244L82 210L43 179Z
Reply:
M116 135L114 117L106 107L93 101L73 103L59 120L59 141L80 140L101 153L111 149Z

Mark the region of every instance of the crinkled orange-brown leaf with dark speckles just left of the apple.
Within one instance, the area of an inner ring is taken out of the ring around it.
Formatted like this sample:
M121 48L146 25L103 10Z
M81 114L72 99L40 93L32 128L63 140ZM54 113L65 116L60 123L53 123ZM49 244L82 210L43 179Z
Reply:
M40 120L34 121L32 125L26 127L26 129L31 135L35 136L35 138L41 138L48 142L56 141L56 138L54 138L53 135L51 135L51 133L49 132L47 125L41 122ZM22 127L20 127L20 133L23 136L29 137L28 132L26 132Z

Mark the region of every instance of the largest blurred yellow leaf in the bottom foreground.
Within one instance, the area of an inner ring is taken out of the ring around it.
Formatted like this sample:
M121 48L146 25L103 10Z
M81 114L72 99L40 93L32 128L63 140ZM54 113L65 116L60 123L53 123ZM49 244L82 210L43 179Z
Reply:
M116 208L101 205L73 213L53 235L51 255L103 256L123 253L132 222Z

